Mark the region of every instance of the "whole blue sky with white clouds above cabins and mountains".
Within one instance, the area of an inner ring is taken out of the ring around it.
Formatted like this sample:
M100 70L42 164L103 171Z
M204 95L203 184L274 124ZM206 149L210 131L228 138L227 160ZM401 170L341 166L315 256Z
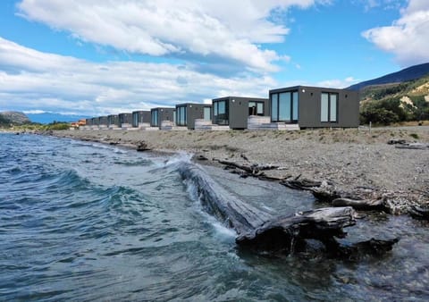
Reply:
M100 116L429 62L427 0L1 0L0 111Z

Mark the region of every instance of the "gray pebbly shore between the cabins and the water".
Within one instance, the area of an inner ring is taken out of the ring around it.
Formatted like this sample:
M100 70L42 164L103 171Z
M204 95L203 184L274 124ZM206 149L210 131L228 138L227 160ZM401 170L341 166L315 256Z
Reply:
M429 149L388 144L391 140L427 144L427 126L371 132L62 130L52 134L153 151L186 151L201 164L219 165L220 160L245 166L275 165L278 168L264 175L329 183L329 190L372 202L383 200L392 214L429 203Z

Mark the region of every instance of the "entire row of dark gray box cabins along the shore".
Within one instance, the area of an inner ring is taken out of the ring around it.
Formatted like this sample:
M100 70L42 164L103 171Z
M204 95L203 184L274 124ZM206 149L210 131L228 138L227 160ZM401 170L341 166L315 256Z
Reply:
M85 129L298 130L359 125L357 91L296 86L269 98L226 96L211 105L181 104L87 119Z

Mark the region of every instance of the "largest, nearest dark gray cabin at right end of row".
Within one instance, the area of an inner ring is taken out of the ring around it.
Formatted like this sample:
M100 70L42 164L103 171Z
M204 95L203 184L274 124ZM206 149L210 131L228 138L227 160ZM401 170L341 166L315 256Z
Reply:
M271 122L299 124L299 128L359 126L357 91L295 86L269 92Z

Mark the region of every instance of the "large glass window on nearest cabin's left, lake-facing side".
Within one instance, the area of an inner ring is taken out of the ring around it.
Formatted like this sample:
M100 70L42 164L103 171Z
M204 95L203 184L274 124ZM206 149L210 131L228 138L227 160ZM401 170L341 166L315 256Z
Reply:
M298 122L298 91L287 91L271 95L271 120L273 122Z

